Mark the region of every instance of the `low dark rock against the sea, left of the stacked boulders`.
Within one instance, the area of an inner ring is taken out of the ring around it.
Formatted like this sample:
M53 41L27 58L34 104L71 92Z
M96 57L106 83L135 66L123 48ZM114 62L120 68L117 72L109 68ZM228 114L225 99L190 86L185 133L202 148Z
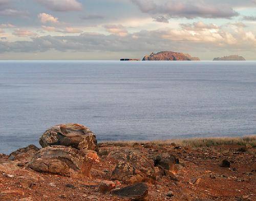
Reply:
M10 155L9 155L9 160L14 161L14 160L18 160L18 161L23 161L23 162L29 162L31 161L31 159L33 158L33 155L39 150L39 148L37 148L35 145L29 145L27 147L24 148L20 148L16 151L13 151Z

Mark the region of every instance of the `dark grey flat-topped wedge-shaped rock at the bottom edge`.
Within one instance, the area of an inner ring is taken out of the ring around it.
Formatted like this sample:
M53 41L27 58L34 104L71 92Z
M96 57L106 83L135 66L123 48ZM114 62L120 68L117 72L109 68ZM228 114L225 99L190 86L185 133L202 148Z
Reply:
M136 200L143 200L148 194L148 188L144 183L130 185L121 189L111 191L112 195Z

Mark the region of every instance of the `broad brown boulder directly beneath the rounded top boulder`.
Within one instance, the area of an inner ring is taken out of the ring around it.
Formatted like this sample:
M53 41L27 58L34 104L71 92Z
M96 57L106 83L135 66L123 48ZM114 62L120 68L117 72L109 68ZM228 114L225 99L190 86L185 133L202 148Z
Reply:
M40 149L28 166L38 172L90 177L91 163L77 149L66 146L48 146Z

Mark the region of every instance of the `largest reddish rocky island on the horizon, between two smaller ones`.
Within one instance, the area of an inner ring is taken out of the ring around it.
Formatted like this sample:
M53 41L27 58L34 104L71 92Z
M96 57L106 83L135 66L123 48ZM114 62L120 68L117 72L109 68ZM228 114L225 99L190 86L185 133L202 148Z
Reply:
M189 54L184 54L180 52L164 51L158 52L156 54L151 53L150 56L145 55L142 59L143 61L199 61L198 57L191 57Z

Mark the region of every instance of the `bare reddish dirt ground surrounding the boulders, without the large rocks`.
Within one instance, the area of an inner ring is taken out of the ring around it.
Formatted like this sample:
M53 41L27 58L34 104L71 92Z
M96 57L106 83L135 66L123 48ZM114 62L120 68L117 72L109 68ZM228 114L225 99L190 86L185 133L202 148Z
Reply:
M121 146L120 146L121 145ZM126 146L126 147L123 147ZM100 162L93 162L92 178L71 178L61 175L38 173L18 161L9 161L0 154L0 200L129 200L99 193L102 180L111 180L116 163L105 160L112 150L128 148L142 152L148 159L159 153L170 153L179 158L178 181L158 176L155 184L147 184L147 200L256 200L255 196L255 148L237 151L240 146L175 149L170 145L154 145L145 148L119 144L101 144ZM220 167L223 159L230 167ZM199 178L193 182L194 178ZM120 187L125 186L114 181ZM170 192L171 191L171 192ZM167 196L170 192L173 196Z

